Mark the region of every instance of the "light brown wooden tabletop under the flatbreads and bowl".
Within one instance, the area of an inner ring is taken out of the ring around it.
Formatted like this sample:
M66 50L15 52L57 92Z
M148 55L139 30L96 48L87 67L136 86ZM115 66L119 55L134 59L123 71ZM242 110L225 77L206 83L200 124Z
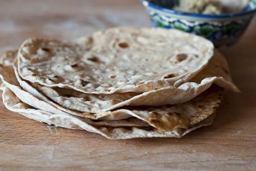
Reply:
M138 1L1 1L0 52L27 37L71 40L113 26L150 26ZM212 126L181 139L108 140L55 128L0 104L0 170L256 168L256 21L241 40L222 48L242 93L226 92Z

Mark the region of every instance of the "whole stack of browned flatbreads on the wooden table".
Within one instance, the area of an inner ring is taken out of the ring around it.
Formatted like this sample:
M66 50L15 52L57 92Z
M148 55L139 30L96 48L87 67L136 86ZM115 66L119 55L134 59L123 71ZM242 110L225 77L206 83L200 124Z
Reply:
M210 41L162 28L29 38L0 74L7 109L109 139L181 137L212 123L224 89L239 91Z

